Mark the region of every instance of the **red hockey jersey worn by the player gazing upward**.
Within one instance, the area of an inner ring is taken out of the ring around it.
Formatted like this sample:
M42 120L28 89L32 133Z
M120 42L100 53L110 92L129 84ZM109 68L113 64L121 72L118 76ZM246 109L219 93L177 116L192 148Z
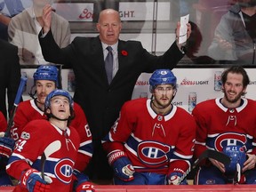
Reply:
M72 172L76 162L80 138L75 128L69 127L64 132L50 124L47 120L40 119L29 122L20 135L20 140L6 166L6 172L20 180L21 173L31 167L41 171L41 156L48 148L44 173L51 177L51 191L72 191ZM20 191L26 188L16 187Z

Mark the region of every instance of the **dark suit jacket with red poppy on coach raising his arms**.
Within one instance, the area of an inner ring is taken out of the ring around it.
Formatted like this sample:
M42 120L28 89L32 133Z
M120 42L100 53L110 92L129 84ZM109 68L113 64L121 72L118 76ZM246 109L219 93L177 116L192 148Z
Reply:
M140 42L119 40L119 69L108 85L99 36L76 37L63 49L55 44L51 31L44 38L39 37L39 41L45 60L74 69L74 100L84 109L92 139L98 141L115 123L124 102L131 100L134 84L141 73L152 73L156 68L172 69L183 57L176 43L157 57L147 52Z

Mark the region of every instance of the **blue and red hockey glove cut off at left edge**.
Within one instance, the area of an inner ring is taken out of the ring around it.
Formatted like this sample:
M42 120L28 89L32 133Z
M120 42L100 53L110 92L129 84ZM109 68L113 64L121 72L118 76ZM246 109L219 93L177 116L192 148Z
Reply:
M7 137L0 137L0 156L9 158L14 148L14 140Z

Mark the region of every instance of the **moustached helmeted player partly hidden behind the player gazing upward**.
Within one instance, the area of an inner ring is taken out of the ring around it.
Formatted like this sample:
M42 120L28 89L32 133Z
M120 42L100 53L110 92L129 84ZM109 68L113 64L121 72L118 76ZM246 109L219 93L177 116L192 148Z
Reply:
M35 119L46 119L44 115L44 101L46 96L58 87L58 68L53 65L42 65L34 73L34 86L30 91L32 100L20 102L14 117L12 126L12 139L19 140L23 127L28 122ZM34 92L36 87L36 92ZM36 98L34 96L36 95ZM92 133L90 132L87 119L84 116L83 109L74 103L75 118L71 121L80 136L80 148L76 160L76 170L83 172L90 159L92 158Z

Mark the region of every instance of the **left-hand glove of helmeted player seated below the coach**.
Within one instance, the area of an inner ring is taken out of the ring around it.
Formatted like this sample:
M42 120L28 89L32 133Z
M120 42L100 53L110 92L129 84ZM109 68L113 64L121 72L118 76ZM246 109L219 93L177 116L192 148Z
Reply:
M133 180L135 171L124 151L116 150L108 154L108 164L113 167L116 177L120 180Z

